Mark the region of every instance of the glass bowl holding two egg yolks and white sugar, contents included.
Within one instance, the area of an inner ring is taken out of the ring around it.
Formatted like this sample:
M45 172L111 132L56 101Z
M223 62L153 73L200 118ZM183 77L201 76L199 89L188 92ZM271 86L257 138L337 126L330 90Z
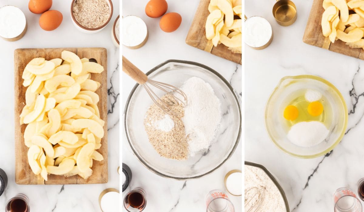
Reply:
M289 107L293 109L287 110ZM329 81L313 75L286 76L270 95L264 119L278 148L295 157L314 158L340 143L348 109L340 91Z

